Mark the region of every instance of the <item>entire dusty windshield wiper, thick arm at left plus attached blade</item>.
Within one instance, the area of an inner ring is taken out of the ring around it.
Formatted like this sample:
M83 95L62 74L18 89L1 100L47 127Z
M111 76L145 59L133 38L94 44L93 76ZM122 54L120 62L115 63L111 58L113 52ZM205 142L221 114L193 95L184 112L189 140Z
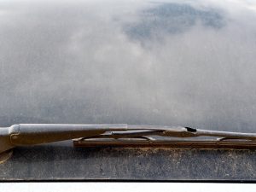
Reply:
M127 124L108 124L108 125L69 125L69 124L20 124L10 127L0 128L0 154L5 154L9 149L18 146L29 146L42 143L60 142L70 139L74 140L75 146L90 146L92 143L102 143L102 146L113 145L122 146L125 142L133 146L140 146L140 143L150 146L157 146L157 143L188 143L188 141L162 141L152 139L148 136L163 138L190 138L190 137L220 137L212 145L222 145L225 143L236 143L241 146L255 146L255 133L241 133L229 131L209 131L190 127L172 127L160 125L127 125ZM105 140L102 140L105 139ZM106 140L108 139L108 141ZM126 141L125 141L126 139ZM127 139L129 141L127 141ZM243 142L241 142L243 140ZM245 140L245 141L244 141ZM189 141L191 143L191 141ZM205 143L205 141L201 141ZM112 143L112 144L111 144ZM200 143L200 140L192 141ZM243 143L243 144L241 144ZM155 144L155 145L154 145ZM196 144L195 144L196 145ZM194 146L195 146L194 145ZM168 146L168 144L166 144ZM191 146L191 145L188 145ZM198 145L201 146L201 145ZM202 146L203 147L203 146ZM232 147L230 144L229 147ZM0 157L1 161L1 157Z

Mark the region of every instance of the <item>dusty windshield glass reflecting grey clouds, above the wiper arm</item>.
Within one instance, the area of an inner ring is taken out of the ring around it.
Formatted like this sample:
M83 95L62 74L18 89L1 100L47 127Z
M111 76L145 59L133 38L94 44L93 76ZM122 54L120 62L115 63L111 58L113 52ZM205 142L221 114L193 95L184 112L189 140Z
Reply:
M253 1L1 1L0 125L255 132Z

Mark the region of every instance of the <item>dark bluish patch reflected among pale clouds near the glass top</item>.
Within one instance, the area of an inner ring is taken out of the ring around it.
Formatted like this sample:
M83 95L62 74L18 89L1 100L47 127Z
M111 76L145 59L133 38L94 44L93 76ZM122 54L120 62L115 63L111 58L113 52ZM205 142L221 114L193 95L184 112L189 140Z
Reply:
M161 32L185 32L197 22L218 29L224 26L224 15L219 9L196 9L181 3L157 3L154 8L144 9L136 23L127 24L125 32L129 37L143 41L152 37L159 38Z

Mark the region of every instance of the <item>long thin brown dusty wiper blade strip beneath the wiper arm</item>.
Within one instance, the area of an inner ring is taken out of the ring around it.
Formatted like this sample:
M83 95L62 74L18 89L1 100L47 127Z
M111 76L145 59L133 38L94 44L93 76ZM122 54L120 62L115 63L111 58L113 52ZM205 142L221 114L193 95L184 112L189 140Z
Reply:
M256 143L245 140L158 140L148 137L132 139L75 139L76 148L200 148L200 149L256 149Z

